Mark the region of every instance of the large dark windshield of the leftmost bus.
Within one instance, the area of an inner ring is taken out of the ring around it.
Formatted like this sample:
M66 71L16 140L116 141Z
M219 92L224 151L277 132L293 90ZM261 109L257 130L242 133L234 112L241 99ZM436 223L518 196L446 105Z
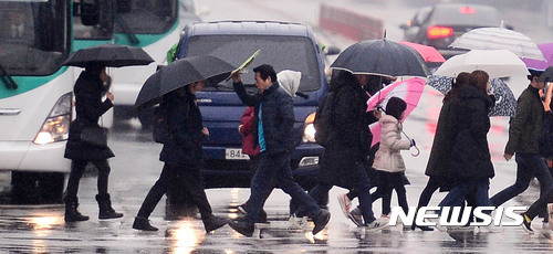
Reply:
M49 75L69 55L67 1L1 1L0 65L7 75Z

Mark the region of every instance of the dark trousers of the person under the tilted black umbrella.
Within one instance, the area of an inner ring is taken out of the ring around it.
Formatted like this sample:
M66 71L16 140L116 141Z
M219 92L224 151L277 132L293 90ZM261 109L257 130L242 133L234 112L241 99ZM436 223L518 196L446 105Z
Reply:
M198 207L202 219L209 218L212 214L211 205L209 205L206 191L204 190L204 179L200 176L199 168L165 163L159 179L144 199L137 216L149 218L161 197L167 192L169 184L178 184L185 189L191 199L190 201Z

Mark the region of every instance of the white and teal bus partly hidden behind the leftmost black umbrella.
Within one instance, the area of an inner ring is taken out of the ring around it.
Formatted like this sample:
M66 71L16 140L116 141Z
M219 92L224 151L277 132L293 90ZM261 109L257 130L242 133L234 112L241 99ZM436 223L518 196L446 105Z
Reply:
M134 110L144 82L167 62L167 51L179 40L186 24L200 21L192 0L119 0L114 17L113 43L145 50L156 62L147 66L112 68L116 120L138 117L143 127L150 127L153 109Z

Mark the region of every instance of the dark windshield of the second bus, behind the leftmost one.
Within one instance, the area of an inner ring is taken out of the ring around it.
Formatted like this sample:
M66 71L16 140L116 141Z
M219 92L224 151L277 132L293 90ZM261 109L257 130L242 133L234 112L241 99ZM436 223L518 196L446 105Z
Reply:
M116 33L160 34L177 19L177 0L133 0L131 11L115 18Z

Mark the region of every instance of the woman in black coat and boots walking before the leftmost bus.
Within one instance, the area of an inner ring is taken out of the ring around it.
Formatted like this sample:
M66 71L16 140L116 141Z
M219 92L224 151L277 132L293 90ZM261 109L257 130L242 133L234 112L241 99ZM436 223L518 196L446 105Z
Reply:
M107 81L105 66L102 63L91 63L76 80L73 92L75 94L76 118L71 124L69 140L65 147L65 158L71 159L71 173L65 193L65 222L86 221L88 216L79 211L79 182L88 162L98 169L96 201L100 207L100 219L122 218L112 208L109 193L107 192L107 179L109 177L109 163L107 158L114 154L107 146L96 146L81 139L85 128L100 128L100 117L113 107L113 94L107 93L107 98L102 102L104 82Z

